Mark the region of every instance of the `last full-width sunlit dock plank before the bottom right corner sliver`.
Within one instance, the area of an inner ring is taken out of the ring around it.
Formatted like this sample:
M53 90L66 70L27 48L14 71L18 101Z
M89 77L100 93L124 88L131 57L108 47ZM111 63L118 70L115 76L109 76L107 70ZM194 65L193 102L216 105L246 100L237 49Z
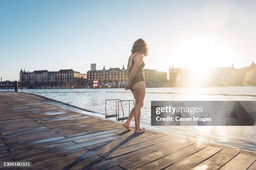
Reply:
M235 158L220 168L220 170L247 170L255 160L255 156L239 153Z

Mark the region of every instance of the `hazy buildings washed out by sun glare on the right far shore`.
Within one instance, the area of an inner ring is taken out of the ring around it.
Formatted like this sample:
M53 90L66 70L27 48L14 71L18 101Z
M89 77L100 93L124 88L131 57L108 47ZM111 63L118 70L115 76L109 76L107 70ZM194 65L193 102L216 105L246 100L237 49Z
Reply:
M171 86L243 86L256 85L256 64L248 67L212 67L197 72L191 69L174 68L169 66L169 82Z

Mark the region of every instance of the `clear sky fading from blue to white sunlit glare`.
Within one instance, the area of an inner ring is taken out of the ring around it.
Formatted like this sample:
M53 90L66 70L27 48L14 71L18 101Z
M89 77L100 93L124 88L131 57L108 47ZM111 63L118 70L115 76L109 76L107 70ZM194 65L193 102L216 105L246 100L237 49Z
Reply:
M0 0L0 77L26 71L127 65L146 40L145 68L256 62L254 0Z

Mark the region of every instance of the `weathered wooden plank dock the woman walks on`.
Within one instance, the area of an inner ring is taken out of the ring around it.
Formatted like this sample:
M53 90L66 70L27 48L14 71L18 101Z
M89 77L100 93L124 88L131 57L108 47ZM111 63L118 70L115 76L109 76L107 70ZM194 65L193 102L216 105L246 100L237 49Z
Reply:
M0 92L0 161L31 161L23 169L32 170L256 170L255 153L156 132L134 134L47 100Z

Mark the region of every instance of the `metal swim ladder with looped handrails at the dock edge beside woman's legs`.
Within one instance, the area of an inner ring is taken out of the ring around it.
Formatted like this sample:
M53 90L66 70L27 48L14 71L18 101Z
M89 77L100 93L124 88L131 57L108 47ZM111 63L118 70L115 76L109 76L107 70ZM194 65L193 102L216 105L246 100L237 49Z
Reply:
M108 115L107 114L107 101L109 100L115 100L115 114L111 114L111 115ZM123 104L122 102L129 102L129 115L130 115L130 103L131 101L133 101L133 106L135 106L135 103L134 103L134 100L121 100L121 99L106 99L105 100L105 118L109 118L109 117L115 117L115 120L116 121L119 121L119 120L125 120L128 118L128 116L124 117L124 111L123 111ZM120 117L119 115L119 103L121 104L121 108L122 108L122 111L123 111L123 117Z

